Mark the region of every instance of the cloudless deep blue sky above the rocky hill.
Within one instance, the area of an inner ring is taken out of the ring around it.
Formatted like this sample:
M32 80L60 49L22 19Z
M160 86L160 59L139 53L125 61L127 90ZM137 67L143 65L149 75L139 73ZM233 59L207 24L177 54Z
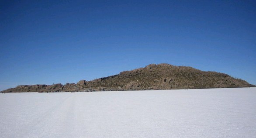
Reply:
M255 0L0 2L0 90L77 83L151 63L256 84Z

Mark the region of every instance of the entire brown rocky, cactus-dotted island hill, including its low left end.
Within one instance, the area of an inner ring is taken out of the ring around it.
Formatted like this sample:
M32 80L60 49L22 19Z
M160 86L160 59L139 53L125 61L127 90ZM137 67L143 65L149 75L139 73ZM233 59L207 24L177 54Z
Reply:
M120 72L91 81L53 85L21 85L1 92L75 92L75 91L116 91L116 90L166 90L253 87L242 79L227 74L205 72L186 66L150 64L145 68Z

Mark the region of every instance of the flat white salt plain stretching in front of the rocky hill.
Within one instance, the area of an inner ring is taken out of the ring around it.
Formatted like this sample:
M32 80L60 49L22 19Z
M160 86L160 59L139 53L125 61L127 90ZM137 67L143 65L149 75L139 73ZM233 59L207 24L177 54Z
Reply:
M1 93L0 137L255 138L256 88Z

